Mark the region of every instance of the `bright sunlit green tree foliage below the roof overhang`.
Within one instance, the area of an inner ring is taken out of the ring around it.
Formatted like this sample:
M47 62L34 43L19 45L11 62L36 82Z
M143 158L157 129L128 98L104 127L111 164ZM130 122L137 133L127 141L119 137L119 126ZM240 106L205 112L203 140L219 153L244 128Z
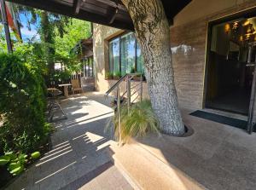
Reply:
M68 72L80 71L80 61L72 49L79 40L90 36L89 22L18 4L15 4L15 11L26 16L29 29L31 25L37 25L38 50L47 65L48 75L55 74L55 63L62 63Z

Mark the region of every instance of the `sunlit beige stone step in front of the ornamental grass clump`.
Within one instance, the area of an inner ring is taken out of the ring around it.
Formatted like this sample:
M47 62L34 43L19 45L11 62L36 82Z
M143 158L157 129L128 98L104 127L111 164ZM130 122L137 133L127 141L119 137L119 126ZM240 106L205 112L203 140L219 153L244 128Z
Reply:
M136 141L123 147L113 144L110 149L113 152L113 164L135 189L205 189L172 164L166 164L157 158L154 153L150 153Z

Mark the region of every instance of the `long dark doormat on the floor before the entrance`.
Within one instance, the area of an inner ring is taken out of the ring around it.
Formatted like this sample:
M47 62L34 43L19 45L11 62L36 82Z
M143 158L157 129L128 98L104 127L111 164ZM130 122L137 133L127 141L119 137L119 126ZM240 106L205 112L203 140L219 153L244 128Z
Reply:
M218 115L212 112L203 112L201 110L191 112L189 115L192 115L198 118L205 118L205 119L217 122L219 124L227 124L232 127L239 128L241 130L247 130L247 121L244 121L238 118L229 118L229 117ZM255 127L253 132L256 132Z

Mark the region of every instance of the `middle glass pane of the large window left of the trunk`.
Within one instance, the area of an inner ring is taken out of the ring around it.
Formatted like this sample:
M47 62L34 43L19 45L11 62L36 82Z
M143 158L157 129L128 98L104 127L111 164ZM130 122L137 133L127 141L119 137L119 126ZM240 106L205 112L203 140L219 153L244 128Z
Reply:
M121 72L131 73L135 67L135 35L128 33L121 37Z

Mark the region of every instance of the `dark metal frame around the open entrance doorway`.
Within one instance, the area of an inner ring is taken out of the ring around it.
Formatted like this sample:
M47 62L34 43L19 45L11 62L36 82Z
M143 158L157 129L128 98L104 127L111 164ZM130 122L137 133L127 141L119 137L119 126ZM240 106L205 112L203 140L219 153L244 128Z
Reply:
M209 20L207 23L207 48L206 48L206 66L205 66L205 75L204 75L204 89L203 89L203 108L206 108L206 101L207 101L207 85L208 85L208 68L209 68L209 54L211 49L212 43L212 26L221 24L223 22L227 22L230 20L236 20L239 18L247 18L247 17L255 17L256 16L256 7L251 9L244 9L234 14L227 14L221 18L215 20ZM255 66L256 71L256 66ZM256 77L255 72L253 75L253 86L252 86L252 94L256 95ZM250 97L250 105L249 105L249 112L248 112L248 120L247 120L247 131L248 133L252 133L253 131L253 105L254 105L255 98Z

